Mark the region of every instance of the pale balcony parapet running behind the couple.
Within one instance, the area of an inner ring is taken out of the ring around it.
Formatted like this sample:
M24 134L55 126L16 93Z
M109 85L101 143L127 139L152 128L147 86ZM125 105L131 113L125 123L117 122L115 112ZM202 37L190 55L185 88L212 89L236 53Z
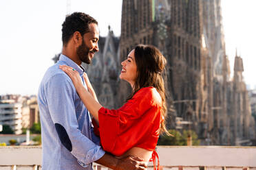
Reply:
M157 147L160 169L256 170L256 147ZM41 169L41 147L0 147L0 170ZM107 169L94 164L94 169ZM153 169L151 162L148 169Z

